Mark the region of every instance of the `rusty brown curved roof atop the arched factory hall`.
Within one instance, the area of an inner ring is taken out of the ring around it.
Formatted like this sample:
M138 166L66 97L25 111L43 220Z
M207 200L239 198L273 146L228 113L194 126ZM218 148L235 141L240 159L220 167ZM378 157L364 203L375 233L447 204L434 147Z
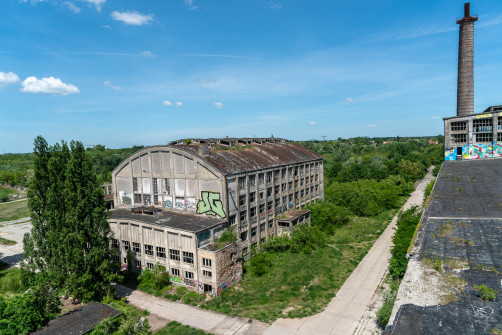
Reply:
M263 144L241 142L232 146L213 145L209 148L209 155L200 154L201 145L204 144L178 144L176 147L202 157L225 175L322 160L322 156L312 150L285 141L264 141Z

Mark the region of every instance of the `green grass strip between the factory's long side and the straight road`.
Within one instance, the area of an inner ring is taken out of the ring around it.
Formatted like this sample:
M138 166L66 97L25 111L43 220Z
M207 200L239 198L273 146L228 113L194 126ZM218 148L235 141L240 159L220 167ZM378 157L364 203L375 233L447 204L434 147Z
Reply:
M397 209L374 217L356 217L338 227L327 245L311 254L273 254L272 271L242 281L202 305L220 313L272 322L319 313L385 230ZM248 264L245 264L245 268Z

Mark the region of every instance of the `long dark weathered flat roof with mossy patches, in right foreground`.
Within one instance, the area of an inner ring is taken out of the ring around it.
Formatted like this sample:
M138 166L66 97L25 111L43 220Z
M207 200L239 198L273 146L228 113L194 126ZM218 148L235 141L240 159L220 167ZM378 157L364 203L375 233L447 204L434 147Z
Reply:
M424 260L440 259L444 275L460 277L465 286L454 289L448 286L453 284L441 282L441 292L455 292L450 302L442 305L423 306L417 298L406 300L396 314L393 328L383 334L486 334L490 329L499 329L500 293L494 301L485 301L476 286L500 291L501 175L502 159L443 162L410 262L424 264ZM450 261L457 262L461 269L450 268L455 264ZM434 275L432 269L427 271ZM424 286L424 280L416 274L408 276L407 272L400 292ZM435 289L428 287L431 292Z

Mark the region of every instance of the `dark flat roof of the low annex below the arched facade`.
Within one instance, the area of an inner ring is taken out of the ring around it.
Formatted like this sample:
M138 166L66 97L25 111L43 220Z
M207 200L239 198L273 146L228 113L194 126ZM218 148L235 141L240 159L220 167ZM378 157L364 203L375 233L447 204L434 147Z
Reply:
M190 214L190 213L180 213L174 210L163 209L161 212L149 215L149 214L135 214L130 208L116 208L110 210L111 217L110 220L120 221L123 220L134 220L138 222L148 223L156 225L159 227L169 227L180 230L185 230L189 232L199 232L213 226L217 226L226 219L214 218L210 216L200 215L200 214Z

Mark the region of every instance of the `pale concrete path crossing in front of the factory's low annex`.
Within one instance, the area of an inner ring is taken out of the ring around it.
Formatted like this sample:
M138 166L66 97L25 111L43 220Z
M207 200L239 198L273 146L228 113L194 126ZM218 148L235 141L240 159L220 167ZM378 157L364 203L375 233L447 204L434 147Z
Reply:
M157 298L122 285L117 285L117 294L120 297L127 297L127 300L134 306L148 310L150 312L148 319L154 329L165 326L169 321L178 321L184 325L213 334L258 335L263 334L269 326L256 320L248 322L248 319L234 318L183 303Z

